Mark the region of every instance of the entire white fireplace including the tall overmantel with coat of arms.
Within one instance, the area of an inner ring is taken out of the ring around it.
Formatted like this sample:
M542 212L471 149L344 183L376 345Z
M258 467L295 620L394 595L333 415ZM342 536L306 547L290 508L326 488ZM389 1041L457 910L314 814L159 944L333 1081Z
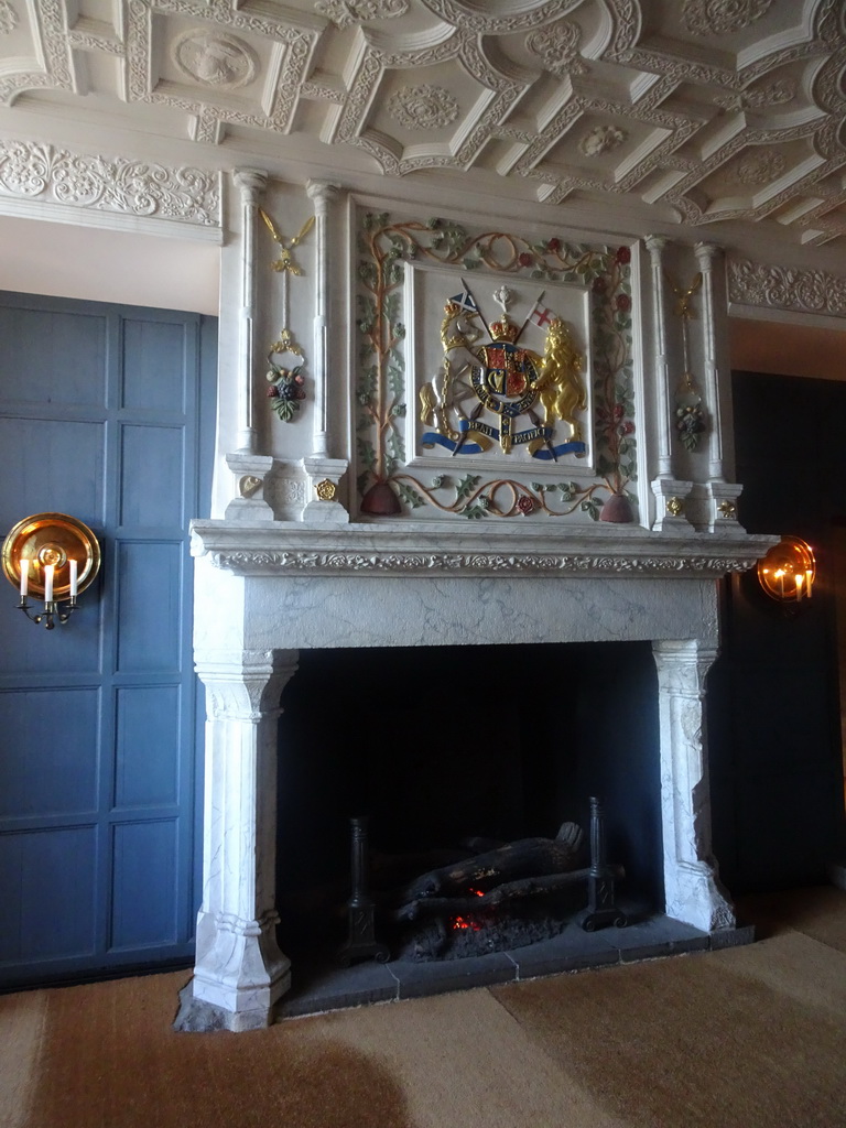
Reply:
M723 248L492 219L475 201L457 213L443 194L430 221L429 205L323 182L303 191L259 169L236 170L232 190L212 519L194 522L192 543L203 899L177 1025L264 1026L290 986L275 929L276 757L289 755L277 717L301 650L651 642L664 909L732 928L711 852L705 679L719 581L774 538L738 520ZM299 274L284 268L291 250ZM461 398L476 379L461 391L461 373L488 355L469 358L474 338L451 320L470 289L487 317L511 309L537 358L552 343L541 323L571 327L579 361L549 371L581 373L572 431L563 406L531 431L529 404L512 450L504 416L501 432L479 416L487 394L475 407ZM305 364L287 421L268 349ZM613 495L623 513L605 508Z

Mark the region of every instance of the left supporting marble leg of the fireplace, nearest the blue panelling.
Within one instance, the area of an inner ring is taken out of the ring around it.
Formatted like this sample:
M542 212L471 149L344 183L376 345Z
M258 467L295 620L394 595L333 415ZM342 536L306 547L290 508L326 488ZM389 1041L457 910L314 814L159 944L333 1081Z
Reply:
M203 900L178 1030L255 1030L290 986L277 944L276 721L297 651L197 659L206 689Z

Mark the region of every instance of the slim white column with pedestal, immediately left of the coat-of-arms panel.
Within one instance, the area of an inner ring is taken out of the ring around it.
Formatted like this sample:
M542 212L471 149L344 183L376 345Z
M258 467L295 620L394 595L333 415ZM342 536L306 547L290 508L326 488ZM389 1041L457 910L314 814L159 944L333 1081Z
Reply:
M329 358L328 358L328 311L329 311L329 204L338 193L336 184L309 180L306 186L315 205L317 230L317 284L315 288L315 430L311 453L302 459L302 468L308 475L310 496L303 510L305 521L344 525L350 514L338 500L338 484L346 473L349 462L344 458L333 458L329 449Z

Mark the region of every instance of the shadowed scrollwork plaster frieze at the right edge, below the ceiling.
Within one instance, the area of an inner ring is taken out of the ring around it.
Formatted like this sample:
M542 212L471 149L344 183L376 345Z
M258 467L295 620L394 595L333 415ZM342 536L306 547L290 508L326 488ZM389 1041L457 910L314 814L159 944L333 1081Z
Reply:
M846 316L846 277L826 271L769 266L748 258L729 262L729 300L796 314Z

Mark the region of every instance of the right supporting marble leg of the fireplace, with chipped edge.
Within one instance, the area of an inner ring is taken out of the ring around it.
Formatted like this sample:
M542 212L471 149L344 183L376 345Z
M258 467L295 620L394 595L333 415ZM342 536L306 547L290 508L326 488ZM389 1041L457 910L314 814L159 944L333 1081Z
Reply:
M667 915L705 932L734 927L734 909L711 853L705 678L715 641L653 642L661 733Z

